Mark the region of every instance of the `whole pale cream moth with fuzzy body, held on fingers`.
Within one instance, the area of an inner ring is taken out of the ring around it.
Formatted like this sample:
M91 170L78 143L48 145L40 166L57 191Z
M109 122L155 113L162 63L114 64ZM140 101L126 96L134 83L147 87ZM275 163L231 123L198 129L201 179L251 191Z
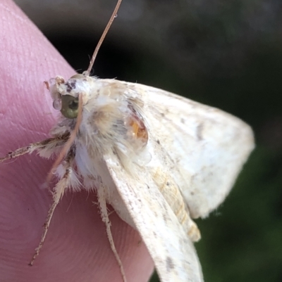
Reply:
M47 88L61 110L51 138L8 153L0 162L37 152L59 154L49 176L52 191L39 255L56 205L68 189L97 191L102 220L121 277L123 263L111 236L106 203L139 231L163 282L203 281L192 242L200 231L192 219L207 217L231 190L254 148L252 129L237 117L150 86L90 77L57 76Z

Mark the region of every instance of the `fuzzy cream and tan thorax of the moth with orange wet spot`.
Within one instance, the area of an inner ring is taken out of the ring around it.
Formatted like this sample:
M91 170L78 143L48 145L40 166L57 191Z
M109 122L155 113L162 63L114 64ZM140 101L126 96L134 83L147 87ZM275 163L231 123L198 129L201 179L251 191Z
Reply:
M133 162L144 164L149 161L150 155L146 152L149 136L142 115L144 104L137 92L114 79L105 81L84 75L74 75L67 82L56 77L50 90L54 103L63 95L82 95L82 122L74 142L75 162L82 178L95 178L97 172L93 163L109 153L118 155L130 174L135 173ZM71 134L74 126L75 119L61 117L51 134Z

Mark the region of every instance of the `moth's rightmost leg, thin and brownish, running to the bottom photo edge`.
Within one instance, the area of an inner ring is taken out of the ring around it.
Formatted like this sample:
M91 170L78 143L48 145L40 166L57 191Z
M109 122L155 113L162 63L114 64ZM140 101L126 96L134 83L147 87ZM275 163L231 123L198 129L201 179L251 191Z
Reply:
M106 208L106 195L105 195L104 187L99 187L97 189L97 196L98 196L98 202L99 202L99 206L100 206L102 221L106 224L106 235L108 236L109 243L111 245L111 250L114 252L114 256L116 257L116 262L118 262L118 267L121 269L121 276L123 278L123 282L126 282L123 264L121 262L121 258L118 255L118 252L116 250L113 235L111 234L111 222L110 222L110 219L109 219L108 210Z

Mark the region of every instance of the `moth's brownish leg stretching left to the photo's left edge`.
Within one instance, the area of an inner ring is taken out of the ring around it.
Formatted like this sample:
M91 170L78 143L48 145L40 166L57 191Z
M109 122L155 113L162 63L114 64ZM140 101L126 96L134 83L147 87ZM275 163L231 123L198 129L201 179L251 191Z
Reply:
M9 152L4 158L0 158L0 162L18 158L20 157L20 155L32 153L35 150L39 152L41 150L51 150L52 148L63 145L63 143L66 142L66 137L67 136L54 137L54 138L45 139L40 142L30 143L28 146L25 146L23 148L18 148L16 150L13 150L12 152Z

